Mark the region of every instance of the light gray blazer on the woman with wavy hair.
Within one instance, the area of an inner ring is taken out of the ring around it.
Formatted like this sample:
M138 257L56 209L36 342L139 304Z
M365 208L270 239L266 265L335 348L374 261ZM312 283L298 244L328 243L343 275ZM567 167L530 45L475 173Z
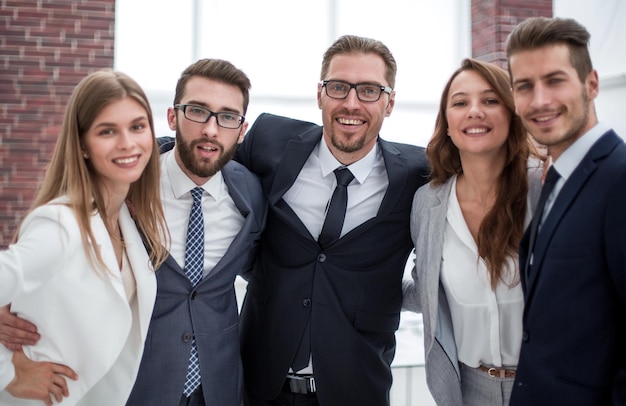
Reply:
M539 164L532 165L528 172L528 204L534 212L541 191L541 169ZM411 211L415 266L413 279L403 281L402 286L403 310L423 315L426 383L440 406L463 404L452 317L440 283L443 232L452 181L450 178L440 186L429 183L415 193Z

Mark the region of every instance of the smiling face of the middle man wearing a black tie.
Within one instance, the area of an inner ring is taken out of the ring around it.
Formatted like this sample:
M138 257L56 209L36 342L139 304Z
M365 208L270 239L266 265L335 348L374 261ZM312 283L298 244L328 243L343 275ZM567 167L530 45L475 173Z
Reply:
M389 86L385 72L385 63L376 54L339 54L332 58L325 80ZM351 89L345 99L333 99L318 85L324 140L339 162L349 165L371 151L384 118L393 110L394 99L395 91L392 91L383 92L378 101L362 102L356 89Z

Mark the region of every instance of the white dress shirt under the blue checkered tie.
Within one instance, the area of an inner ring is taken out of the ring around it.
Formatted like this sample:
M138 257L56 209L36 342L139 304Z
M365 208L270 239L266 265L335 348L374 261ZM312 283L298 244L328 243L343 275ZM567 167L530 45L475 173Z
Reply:
M197 185L180 169L174 151L161 155L161 194L165 221L170 230L170 254L185 267L187 224L193 198L190 190ZM228 193L222 172L216 173L201 186L204 219L204 274L206 276L224 256L241 230L244 218Z

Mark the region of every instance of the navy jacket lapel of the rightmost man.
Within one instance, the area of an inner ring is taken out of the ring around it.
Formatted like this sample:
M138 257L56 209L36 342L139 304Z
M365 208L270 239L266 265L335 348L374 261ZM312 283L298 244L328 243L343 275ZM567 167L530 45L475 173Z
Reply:
M544 223L541 225L535 250L533 252L533 266L528 276L527 299L532 295L546 253L550 246L552 237L561 222L563 216L572 205L576 197L580 194L582 187L587 183L591 175L598 168L599 161L605 158L621 140L613 131L605 133L587 152L583 160L576 167L574 172L567 179L561 191L557 195L552 208L548 213ZM530 253L528 253L530 255Z

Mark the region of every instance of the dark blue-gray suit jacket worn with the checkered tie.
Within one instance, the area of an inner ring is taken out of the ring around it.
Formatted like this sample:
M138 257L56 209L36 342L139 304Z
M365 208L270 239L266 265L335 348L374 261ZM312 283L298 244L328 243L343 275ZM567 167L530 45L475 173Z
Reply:
M162 152L173 147L171 141ZM250 271L265 223L267 203L258 178L237 162L222 175L245 217L241 231L215 268L195 288L170 256L157 270L157 299L135 387L127 405L178 405L196 336L207 405L239 406L243 371L239 315L233 283Z

